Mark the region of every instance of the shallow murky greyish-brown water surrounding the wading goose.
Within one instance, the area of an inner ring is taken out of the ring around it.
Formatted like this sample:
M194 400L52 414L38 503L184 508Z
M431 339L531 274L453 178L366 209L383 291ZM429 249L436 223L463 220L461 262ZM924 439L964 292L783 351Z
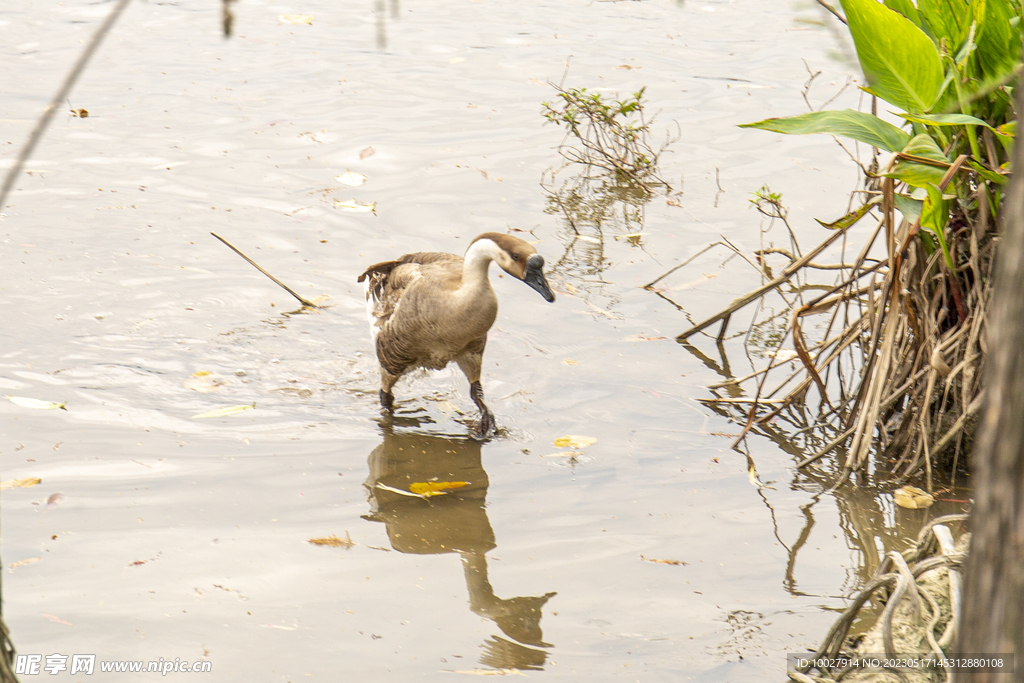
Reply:
M109 7L0 8L7 166ZM664 283L681 309L641 289L721 236L757 249L749 198L766 182L805 245L813 217L846 210L859 171L831 139L736 128L805 111L804 60L822 71L815 105L855 75L816 4L236 14L225 41L216 3L133 3L72 93L89 117L56 117L0 208L0 389L68 401L0 404L3 479L43 480L2 498L19 652L205 658L218 681L780 678L884 550L963 507L817 497L827 463L798 473L804 454L760 436L749 459L730 450L739 427L699 399L751 372L742 340L726 373L713 339L694 352L671 338L760 275L712 251ZM662 171L681 193L574 242L540 185L562 139L541 102L569 55L566 86L647 86L654 130L679 135ZM857 102L851 89L830 106ZM367 183L340 184L346 169ZM353 198L376 213L333 206ZM402 380L385 421L356 275L509 229L536 241L558 299L493 268L483 386L500 436L467 438L476 416L453 369ZM288 312L211 231L330 307ZM185 385L203 371L223 383ZM552 443L564 434L597 442L568 456ZM390 490L432 479L470 485ZM308 543L332 535L352 545Z

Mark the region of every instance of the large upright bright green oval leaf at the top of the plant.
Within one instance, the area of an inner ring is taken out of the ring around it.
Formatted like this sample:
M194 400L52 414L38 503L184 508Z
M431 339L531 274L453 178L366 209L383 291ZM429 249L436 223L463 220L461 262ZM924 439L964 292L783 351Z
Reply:
M843 0L843 8L871 92L906 112L928 112L942 87L935 43L876 0Z

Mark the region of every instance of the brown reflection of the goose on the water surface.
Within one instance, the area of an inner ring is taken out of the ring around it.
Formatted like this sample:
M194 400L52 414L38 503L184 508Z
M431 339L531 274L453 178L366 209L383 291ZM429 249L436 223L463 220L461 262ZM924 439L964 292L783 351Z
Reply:
M497 669L542 669L547 660L541 617L555 594L500 598L487 578L486 554L497 547L485 509L487 473L480 443L460 437L396 433L383 426L383 442L370 454L370 513L383 522L391 547L401 553L458 553L469 590L469 608L494 622L502 634L483 643L480 664ZM413 483L468 482L428 500L396 493Z

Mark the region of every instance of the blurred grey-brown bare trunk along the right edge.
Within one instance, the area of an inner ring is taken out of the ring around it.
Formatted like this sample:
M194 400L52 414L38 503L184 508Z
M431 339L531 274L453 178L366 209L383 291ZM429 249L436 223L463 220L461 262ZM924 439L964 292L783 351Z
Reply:
M1017 116L1024 119L1024 82L1017 88ZM1017 673L961 674L958 680L972 683L1024 680L1024 141L1019 136L1013 170L988 319L986 407L972 459L975 506L959 652L1013 652Z

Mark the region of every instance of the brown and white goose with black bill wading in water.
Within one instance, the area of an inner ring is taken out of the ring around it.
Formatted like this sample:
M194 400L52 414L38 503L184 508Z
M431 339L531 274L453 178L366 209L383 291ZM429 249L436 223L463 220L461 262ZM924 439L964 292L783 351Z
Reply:
M511 234L484 232L465 256L438 252L406 254L377 263L359 275L367 294L367 317L380 362L381 405L393 411L391 388L416 368L441 370L455 360L469 380L469 395L480 411L475 436L496 431L483 402L480 368L487 330L498 315L498 297L487 270L502 270L537 290L548 302L555 295L544 278L544 257Z

